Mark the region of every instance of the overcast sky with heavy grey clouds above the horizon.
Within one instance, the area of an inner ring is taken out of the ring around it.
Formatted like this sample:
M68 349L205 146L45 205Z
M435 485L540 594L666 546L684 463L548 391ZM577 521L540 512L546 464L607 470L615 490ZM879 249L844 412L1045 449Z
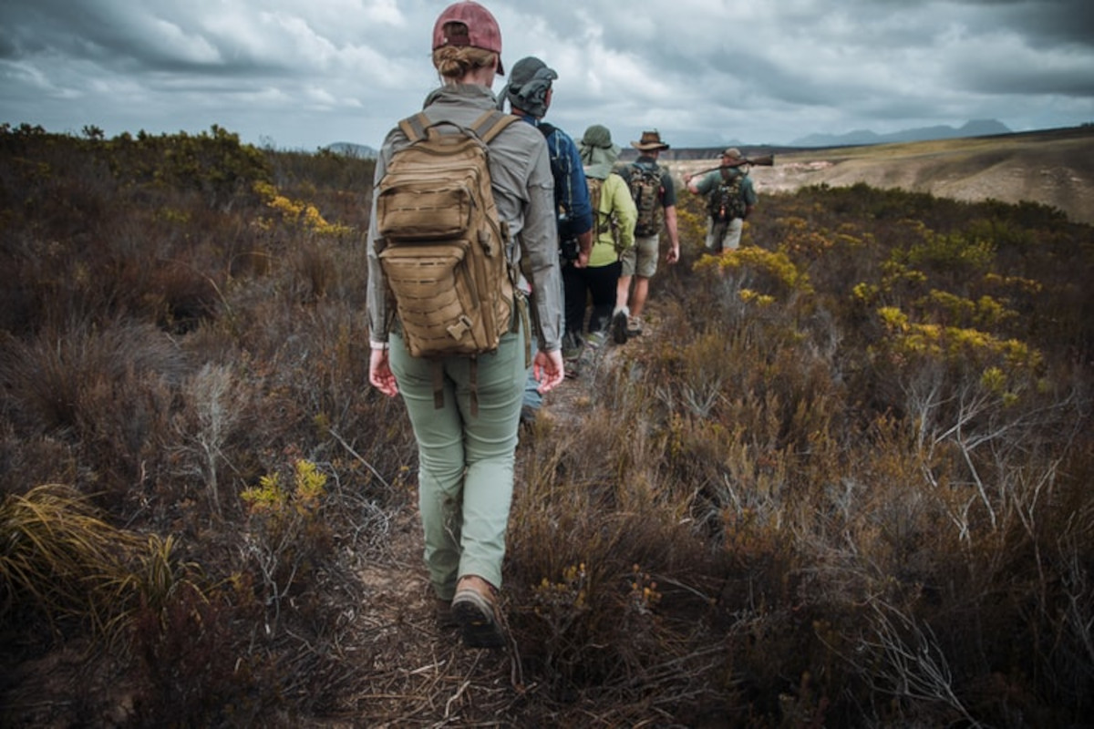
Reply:
M0 122L379 146L438 85L447 0L0 0ZM1094 0L484 0L547 119L626 145L1094 122ZM500 92L499 78L494 91Z

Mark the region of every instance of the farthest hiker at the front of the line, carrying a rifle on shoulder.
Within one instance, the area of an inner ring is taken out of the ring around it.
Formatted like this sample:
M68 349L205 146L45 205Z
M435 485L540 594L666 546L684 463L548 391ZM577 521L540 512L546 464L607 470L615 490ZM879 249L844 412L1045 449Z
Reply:
M696 180L685 175L684 184L694 195L707 196L707 250L723 252L741 246L744 221L755 210L758 198L748 177L753 164L731 146L722 152L722 164Z

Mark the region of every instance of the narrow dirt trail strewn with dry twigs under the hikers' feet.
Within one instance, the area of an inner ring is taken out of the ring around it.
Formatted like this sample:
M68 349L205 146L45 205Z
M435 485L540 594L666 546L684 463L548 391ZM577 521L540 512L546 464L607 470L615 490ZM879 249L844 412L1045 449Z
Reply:
M606 342L595 367L616 366L624 349ZM595 379L591 368L567 378L547 393L539 418L547 420L548 427L577 422L589 409ZM524 480L531 437L533 434L522 427L515 465L517 491ZM314 726L514 726L516 717L508 714L522 703L522 694L535 691L522 675L519 646L467 649L457 632L439 630L422 550L418 510L408 506L393 517L380 557L359 572L365 593L352 633L370 644L369 652L377 643L382 645L380 652L386 659L361 667L368 674L366 689L350 697L345 721L327 718Z

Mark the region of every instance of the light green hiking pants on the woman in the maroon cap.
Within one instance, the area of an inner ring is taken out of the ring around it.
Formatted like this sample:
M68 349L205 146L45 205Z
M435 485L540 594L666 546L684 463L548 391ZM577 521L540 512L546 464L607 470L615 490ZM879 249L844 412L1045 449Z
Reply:
M444 407L438 409L434 362L410 356L397 333L388 355L418 442L418 506L433 590L452 599L464 575L501 587L527 378L524 332L507 333L496 352L479 355L478 415L470 412L470 358L442 361Z

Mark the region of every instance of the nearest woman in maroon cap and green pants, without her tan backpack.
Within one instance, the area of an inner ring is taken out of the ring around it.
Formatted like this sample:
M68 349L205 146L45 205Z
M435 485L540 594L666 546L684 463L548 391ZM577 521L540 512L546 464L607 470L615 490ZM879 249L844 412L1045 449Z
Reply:
M494 109L491 92L501 64L501 31L493 15L469 0L455 2L433 25L433 66L443 85L429 94L431 120L470 126ZM408 144L397 127L384 140L375 180L392 155ZM498 215L517 245L513 263L536 291L538 352L534 373L544 391L563 378L561 291L554 181L543 134L532 125L509 125L489 144L491 187ZM369 380L387 396L401 395L418 444L418 499L426 538L426 567L437 596L438 619L462 628L472 647L499 647L505 632L498 612L505 531L513 494L513 459L527 377L524 324L514 321L498 349L441 361L443 404L434 403L434 361L409 354L392 324L384 270L376 250L376 203L369 231ZM477 408L474 400L477 397ZM477 410L477 413L475 412Z

